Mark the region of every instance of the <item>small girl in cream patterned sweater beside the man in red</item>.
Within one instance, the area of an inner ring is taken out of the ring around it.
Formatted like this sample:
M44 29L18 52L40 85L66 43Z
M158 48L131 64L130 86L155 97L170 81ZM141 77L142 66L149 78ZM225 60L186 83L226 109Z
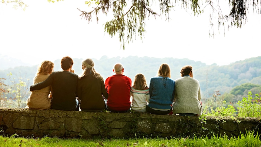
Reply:
M146 112L147 103L150 100L150 92L143 74L138 73L135 75L133 86L130 88L130 96L132 96L131 110Z

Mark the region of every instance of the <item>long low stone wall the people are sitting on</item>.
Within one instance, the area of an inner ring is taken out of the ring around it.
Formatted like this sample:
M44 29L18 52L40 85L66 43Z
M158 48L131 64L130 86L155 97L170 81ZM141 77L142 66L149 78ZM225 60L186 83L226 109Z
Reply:
M246 129L257 132L261 125L260 118L206 117L205 120L200 117L0 108L0 128L4 135L23 137L129 138L199 134L230 137L238 136Z

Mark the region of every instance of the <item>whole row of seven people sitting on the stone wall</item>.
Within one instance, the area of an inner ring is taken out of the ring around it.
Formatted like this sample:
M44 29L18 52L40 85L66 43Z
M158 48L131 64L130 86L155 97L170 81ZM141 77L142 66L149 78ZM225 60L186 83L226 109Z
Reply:
M147 112L151 114L202 115L200 84L193 78L192 67L181 68L181 78L170 78L170 67L161 64L157 76L150 79L138 73L134 82L124 73L121 63L114 65L112 76L107 79L97 73L94 62L82 61L83 73L72 70L73 59L61 59L62 71L54 72L54 63L44 61L30 86L27 99L29 109L56 109L87 112Z

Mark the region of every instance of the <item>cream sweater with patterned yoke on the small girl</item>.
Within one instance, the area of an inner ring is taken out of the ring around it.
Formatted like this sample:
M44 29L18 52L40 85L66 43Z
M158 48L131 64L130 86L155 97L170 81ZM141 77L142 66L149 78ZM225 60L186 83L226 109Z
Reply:
M130 88L130 96L132 96L131 109L146 109L147 102L149 103L150 101L150 92L148 87L143 90L137 90L134 86L132 86Z

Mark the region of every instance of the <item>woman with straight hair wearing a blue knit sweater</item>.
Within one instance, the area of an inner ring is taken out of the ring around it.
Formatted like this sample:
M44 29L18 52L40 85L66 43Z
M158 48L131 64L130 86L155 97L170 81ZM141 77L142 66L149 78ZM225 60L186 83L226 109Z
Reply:
M150 79L150 102L147 112L169 114L175 95L175 81L170 78L170 66L161 64L157 76Z

